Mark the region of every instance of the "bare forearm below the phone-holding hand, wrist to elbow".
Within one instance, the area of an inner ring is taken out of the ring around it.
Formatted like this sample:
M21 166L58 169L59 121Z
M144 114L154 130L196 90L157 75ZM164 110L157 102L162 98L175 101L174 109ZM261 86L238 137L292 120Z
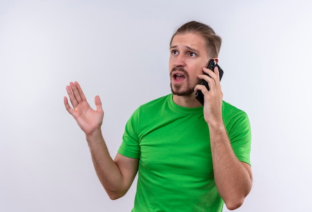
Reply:
M209 126L209 131L215 183L227 208L233 210L250 192L252 176L234 154L223 123Z

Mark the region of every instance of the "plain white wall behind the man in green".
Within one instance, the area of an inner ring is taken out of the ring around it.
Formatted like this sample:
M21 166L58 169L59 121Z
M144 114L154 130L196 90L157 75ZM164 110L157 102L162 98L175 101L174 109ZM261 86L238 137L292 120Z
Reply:
M114 157L132 112L170 93L169 40L190 20L222 37L224 100L252 125L253 189L237 211L311 211L310 2L0 0L0 211L132 209L136 183L117 201L101 187L65 86L101 97Z

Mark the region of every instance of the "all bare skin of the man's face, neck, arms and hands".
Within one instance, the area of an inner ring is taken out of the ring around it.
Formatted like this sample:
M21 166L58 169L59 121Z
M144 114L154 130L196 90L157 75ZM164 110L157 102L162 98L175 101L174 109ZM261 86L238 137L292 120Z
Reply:
M170 46L170 85L175 104L184 107L198 107L195 92L204 94L204 118L210 130L210 143L214 178L217 189L229 210L240 207L252 186L250 165L236 158L222 119L222 98L219 72L205 68L209 57L204 39L194 33L175 35ZM217 58L213 58L218 62ZM173 71L172 71L173 70ZM211 78L204 75L209 74ZM176 77L179 75L179 77ZM198 85L204 79L210 91ZM88 104L80 85L70 83L66 91L72 107L64 97L66 110L75 118L86 135L96 173L108 196L115 200L129 190L138 172L138 159L117 153L113 160L101 132L104 111L98 96L95 97L96 110ZM188 95L181 94L189 93Z

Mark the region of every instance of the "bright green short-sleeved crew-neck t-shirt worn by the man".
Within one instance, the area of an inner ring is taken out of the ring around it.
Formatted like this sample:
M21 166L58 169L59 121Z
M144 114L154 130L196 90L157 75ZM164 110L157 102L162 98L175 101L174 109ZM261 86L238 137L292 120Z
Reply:
M247 114L223 102L222 115L235 155L250 164ZM126 124L118 152L140 159L132 212L222 211L202 106L178 106L172 94L140 106Z

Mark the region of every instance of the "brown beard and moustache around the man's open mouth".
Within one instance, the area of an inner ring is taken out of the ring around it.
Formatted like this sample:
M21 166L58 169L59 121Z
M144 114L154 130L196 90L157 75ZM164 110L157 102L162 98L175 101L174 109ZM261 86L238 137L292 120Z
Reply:
M181 90L182 85L180 85L180 84L172 85L171 79L172 79L172 72L173 72L173 71L181 71L181 72L183 72L184 77L185 77L184 80L186 81L186 82L184 82L184 83L186 83L186 85L187 85L186 89ZM200 82L201 82L201 80L198 79L197 84L200 84ZM194 88L195 88L195 86L196 86L197 84L195 84L195 85L193 85L193 86L190 86L188 73L187 73L183 68L181 68L181 67L174 67L174 68L171 70L171 72L170 72L170 88L171 88L171 92L172 92L173 95L177 95L177 96L189 96L189 95L191 95L191 94L194 93Z

